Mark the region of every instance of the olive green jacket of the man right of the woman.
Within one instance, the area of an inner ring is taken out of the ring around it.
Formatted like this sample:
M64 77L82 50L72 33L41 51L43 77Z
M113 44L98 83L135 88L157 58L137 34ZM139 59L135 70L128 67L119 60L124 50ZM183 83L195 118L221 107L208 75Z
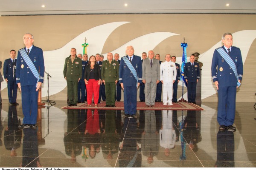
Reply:
M109 63L108 60L102 62L102 80L105 82L115 82L119 80L119 62L116 60Z

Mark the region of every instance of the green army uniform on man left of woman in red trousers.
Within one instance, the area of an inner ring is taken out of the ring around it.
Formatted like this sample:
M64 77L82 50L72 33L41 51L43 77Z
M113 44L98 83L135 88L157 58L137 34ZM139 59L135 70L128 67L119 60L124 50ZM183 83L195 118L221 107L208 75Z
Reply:
M82 60L75 57L73 63L71 62L71 56L65 59L65 65L63 70L64 77L67 79L67 96L69 104L77 104L77 86L79 78L82 78Z

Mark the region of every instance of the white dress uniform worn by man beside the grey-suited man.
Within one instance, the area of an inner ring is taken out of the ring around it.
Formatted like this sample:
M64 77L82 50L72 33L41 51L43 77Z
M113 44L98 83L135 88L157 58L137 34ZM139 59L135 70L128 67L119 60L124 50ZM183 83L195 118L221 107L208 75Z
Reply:
M176 80L176 74L177 71L174 62L163 61L161 63L160 81L163 80L163 105L172 105L172 84L173 80Z

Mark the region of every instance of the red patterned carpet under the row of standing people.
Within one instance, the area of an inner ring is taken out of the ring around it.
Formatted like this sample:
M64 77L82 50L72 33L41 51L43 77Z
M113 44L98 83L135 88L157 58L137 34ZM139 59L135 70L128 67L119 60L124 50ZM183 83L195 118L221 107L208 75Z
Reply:
M184 111L203 111L204 109L198 105L187 102L172 103L173 105L163 105L163 102L155 102L154 108L145 108L145 102L137 102L137 110L184 110ZM87 103L78 103L77 106L64 106L62 109L103 109L103 110L124 110L124 102L116 102L116 107L105 108L106 102L98 104L95 107L92 104L87 107Z

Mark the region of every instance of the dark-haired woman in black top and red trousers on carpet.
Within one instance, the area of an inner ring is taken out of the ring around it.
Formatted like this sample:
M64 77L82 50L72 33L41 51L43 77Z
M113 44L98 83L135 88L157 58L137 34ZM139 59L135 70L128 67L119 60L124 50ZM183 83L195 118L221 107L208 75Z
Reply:
M99 85L101 82L101 71L99 65L96 63L95 56L91 56L89 58L89 64L87 64L85 67L84 82L87 90L87 106L91 106L93 99L95 107L97 107L99 100Z

